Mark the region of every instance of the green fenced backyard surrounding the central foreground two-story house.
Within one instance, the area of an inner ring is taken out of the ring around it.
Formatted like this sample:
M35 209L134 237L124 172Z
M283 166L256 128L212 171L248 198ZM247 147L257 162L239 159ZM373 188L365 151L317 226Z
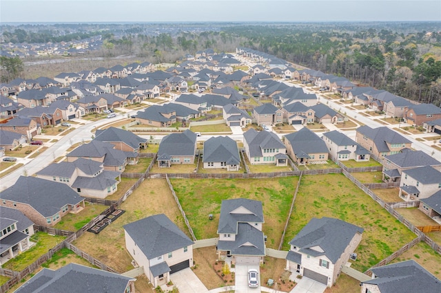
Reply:
M247 198L263 203L267 246L278 248L298 177L258 180L172 180L196 239L217 237L223 199ZM209 221L208 215L214 219Z

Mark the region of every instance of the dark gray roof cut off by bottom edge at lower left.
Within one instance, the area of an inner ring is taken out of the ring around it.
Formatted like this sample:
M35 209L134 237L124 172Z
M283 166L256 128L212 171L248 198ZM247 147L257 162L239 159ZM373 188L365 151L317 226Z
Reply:
M132 280L134 278L70 263L58 270L43 268L15 292L59 293L61 290L65 292L123 293L129 281Z

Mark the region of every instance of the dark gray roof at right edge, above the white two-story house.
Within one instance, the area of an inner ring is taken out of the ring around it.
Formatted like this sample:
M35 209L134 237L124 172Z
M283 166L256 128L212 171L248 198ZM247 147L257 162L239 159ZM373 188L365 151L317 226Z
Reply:
M411 168L420 166L440 166L441 162L435 160L424 151L404 151L393 155L387 155L384 159L393 162L401 168Z

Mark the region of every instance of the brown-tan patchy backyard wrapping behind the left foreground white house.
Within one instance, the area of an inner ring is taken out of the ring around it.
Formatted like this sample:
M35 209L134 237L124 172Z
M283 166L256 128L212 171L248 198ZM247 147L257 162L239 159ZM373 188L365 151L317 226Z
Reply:
M165 213L185 234L187 227L165 180L147 179L119 207L125 213L98 235L85 232L74 241L74 246L99 259L117 272L133 269L132 257L125 249L125 224L150 215Z

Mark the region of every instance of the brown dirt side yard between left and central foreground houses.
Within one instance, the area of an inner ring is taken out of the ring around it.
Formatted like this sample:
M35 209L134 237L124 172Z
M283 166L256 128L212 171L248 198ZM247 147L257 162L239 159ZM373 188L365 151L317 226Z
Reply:
M193 272L208 290L225 286L222 278L220 278L216 270L214 270L216 257L216 248L214 246L193 250L193 259L196 264L196 268L193 269Z

